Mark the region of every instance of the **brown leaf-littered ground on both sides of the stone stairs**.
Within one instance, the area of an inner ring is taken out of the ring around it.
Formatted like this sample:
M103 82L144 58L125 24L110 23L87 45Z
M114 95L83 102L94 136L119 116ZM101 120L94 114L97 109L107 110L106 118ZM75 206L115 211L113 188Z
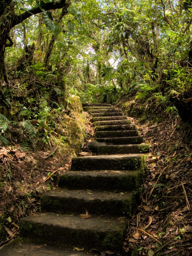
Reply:
M171 116L153 124L129 119L151 150L140 191L141 204L128 221L125 255L131 251L131 256L191 255L192 146L187 131L179 118ZM87 134L93 136L90 124ZM6 176L0 186L0 216L7 218L0 246L17 237L19 218L38 211L41 194L54 189L58 175L69 170L71 157L62 159L54 151L42 148L26 153L19 146L0 148L0 164L5 166L1 175Z

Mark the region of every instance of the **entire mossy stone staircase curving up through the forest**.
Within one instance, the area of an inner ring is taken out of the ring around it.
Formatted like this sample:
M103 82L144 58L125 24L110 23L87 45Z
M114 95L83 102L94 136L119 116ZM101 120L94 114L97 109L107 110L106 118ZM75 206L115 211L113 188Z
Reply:
M41 197L41 212L21 219L20 236L32 241L121 253L126 219L144 171L143 143L135 126L110 104L84 104L95 127L87 148L97 155L72 159L58 188ZM143 143L143 144L141 144ZM88 211L90 218L81 218Z

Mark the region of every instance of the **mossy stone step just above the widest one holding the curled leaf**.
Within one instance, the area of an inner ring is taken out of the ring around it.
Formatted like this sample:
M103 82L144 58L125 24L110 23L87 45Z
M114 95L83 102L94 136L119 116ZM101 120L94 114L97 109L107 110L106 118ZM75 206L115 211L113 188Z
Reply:
M134 195L130 192L67 190L57 188L41 196L41 211L60 214L131 216Z

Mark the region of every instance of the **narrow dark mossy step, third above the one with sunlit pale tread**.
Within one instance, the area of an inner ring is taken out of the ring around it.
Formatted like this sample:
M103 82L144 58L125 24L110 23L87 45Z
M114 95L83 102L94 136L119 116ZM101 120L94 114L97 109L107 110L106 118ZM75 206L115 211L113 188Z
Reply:
M96 131L96 138L113 138L113 137L131 137L138 136L137 130L126 130L126 131Z

